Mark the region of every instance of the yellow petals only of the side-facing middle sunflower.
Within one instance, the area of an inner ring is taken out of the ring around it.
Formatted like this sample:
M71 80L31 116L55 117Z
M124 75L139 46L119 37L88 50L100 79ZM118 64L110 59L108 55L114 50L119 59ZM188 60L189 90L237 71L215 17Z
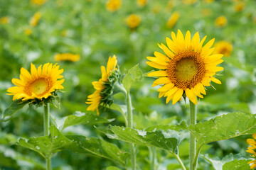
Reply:
M96 110L97 115L100 115L99 106L103 98L101 93L105 89L104 83L108 81L110 74L114 70L117 70L117 57L115 55L113 57L109 57L109 60L107 61L107 69L104 66L101 67L102 78L99 81L92 82L95 92L89 95L87 101L85 102L87 104L90 104L90 106L88 106L87 108L87 111Z

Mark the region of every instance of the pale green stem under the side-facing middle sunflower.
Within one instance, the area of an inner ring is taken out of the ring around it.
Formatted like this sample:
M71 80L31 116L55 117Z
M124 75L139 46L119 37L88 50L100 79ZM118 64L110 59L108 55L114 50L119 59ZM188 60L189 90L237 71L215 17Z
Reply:
M132 128L132 101L129 91L127 91L127 128ZM134 152L134 144L129 144L131 154L132 170L136 169L136 155Z

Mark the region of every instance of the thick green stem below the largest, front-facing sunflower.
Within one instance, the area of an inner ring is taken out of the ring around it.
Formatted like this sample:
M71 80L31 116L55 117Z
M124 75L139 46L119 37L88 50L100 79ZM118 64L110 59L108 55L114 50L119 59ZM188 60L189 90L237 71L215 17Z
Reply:
M196 105L189 101L190 104L190 117L191 117L191 125L196 125ZM196 157L196 138L193 136L192 133L190 133L190 145L189 145L189 157L190 157L190 169L195 170L197 166L196 164L193 164L195 157Z

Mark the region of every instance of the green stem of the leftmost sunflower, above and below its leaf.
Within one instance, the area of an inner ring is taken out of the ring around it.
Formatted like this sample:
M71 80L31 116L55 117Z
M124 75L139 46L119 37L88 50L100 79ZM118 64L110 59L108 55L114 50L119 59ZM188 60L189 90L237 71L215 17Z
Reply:
M49 103L44 106L44 114L43 114L43 135L48 136L50 135L49 131L49 126L50 126L50 106ZM46 170L50 170L50 157L46 158Z

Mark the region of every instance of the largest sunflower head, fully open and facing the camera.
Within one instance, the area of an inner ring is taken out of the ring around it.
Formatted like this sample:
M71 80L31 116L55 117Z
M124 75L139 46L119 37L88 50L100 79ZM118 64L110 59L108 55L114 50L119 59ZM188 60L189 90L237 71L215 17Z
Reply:
M217 67L223 62L223 55L211 55L214 48L211 48L214 38L203 46L206 36L200 41L198 32L191 40L191 33L186 32L185 38L178 30L177 35L171 33L171 38L166 38L167 46L159 47L166 55L154 52L155 57L147 57L151 62L146 62L149 66L160 71L150 72L148 77L159 77L152 86L164 84L158 89L159 98L167 97L166 103L172 100L175 104L181 96L187 96L194 104L197 104L197 97L203 98L206 95L205 86L210 86L210 81L217 84L221 82L213 77L216 72L223 70Z

